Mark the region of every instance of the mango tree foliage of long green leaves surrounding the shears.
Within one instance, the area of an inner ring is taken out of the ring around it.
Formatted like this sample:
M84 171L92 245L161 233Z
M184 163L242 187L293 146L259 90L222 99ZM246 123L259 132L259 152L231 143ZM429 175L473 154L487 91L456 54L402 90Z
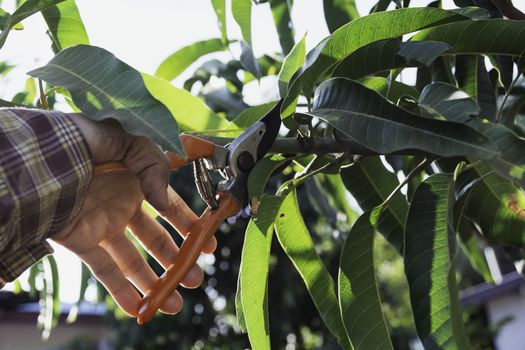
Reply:
M461 8L446 10L430 1L411 8L409 1L379 0L369 4L370 14L360 14L359 2L323 1L330 35L308 51L310 33L297 36L304 33L295 32L292 14L310 4L213 0L217 32L173 47L154 76L90 46L73 0L28 0L13 13L0 11L0 47L11 30L23 30L25 18L44 16L56 56L29 73L48 83L42 98L52 103L55 94L66 96L88 117L115 118L166 150L181 151L179 128L226 144L284 100L280 135L248 176L247 207L229 220L238 230L250 213L244 235L218 236L224 247L243 245L228 253L241 263L226 298L228 307L235 300L239 329L247 333L239 348L284 348L292 340L297 348L406 346L396 340L388 285L374 264L383 253L374 244L377 233L403 260L399 273L411 304L403 307L411 310L413 337L425 349L475 348L478 339L468 334L460 306L458 289L466 282L456 280L464 272L458 274L459 262L469 261L482 276L473 278L492 283L483 248L523 249L521 12L510 1L505 9L456 1ZM253 28L252 13L259 6L273 19L275 28L264 30L277 32L280 48L257 57L252 34L260 28ZM237 25L240 35L231 37L227 29ZM216 59L219 51L229 58ZM0 65L2 76L10 64ZM182 87L170 83L182 76L189 76ZM272 83L260 104L249 105L245 86L258 84L254 79ZM26 90L2 106L32 104L35 83ZM46 334L58 315L55 270L54 261L45 260L29 278L42 300ZM43 288L36 283L41 274ZM83 274L78 303L87 286ZM300 317L288 322L290 305L311 309L322 325ZM213 322L223 316L217 312ZM212 338L210 347L217 345Z

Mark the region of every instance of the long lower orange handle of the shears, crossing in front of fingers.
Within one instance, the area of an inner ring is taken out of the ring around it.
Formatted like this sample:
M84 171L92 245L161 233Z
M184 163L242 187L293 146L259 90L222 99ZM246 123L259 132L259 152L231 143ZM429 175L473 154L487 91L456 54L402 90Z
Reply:
M186 239L175 256L173 263L157 280L152 290L148 291L139 306L137 323L150 321L159 307L178 287L186 273L195 264L208 239L217 231L228 216L241 209L239 202L229 193L219 193L219 207L207 208L191 226Z

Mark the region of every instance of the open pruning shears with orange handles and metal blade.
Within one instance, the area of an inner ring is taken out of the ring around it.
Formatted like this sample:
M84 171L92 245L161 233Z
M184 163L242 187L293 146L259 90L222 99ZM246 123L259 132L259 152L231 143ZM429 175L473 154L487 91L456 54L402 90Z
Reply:
M191 226L171 265L157 280L153 289L144 295L137 316L139 324L153 318L164 300L173 293L195 264L205 243L220 224L227 217L237 214L246 203L248 175L275 142L281 125L280 107L281 103L278 103L226 146L198 136L182 134L180 140L187 158L166 152L171 170L193 162L197 190L208 207ZM223 180L213 184L209 171L217 171ZM95 176L123 172L127 172L127 169L120 162L98 164L94 169Z

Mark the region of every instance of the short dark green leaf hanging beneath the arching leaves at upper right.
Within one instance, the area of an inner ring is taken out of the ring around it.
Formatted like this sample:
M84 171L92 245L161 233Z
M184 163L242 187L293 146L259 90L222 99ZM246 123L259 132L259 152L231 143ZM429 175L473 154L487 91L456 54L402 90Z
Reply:
M456 79L458 86L476 100L481 107L480 117L494 120L496 97L482 56L457 55Z

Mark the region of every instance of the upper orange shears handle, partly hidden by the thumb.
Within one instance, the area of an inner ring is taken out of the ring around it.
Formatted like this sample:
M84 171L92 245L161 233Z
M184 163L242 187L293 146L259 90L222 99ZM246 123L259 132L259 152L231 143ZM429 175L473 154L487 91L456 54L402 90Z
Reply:
M215 144L213 142L201 139L192 135L180 135L180 141L184 152L188 158L184 159L173 152L166 152L166 156L171 163L171 169L175 170L182 167L184 164L197 160L199 158L211 158L215 154ZM105 162L96 164L93 169L94 176L104 174L122 174L126 173L128 169L122 162Z

